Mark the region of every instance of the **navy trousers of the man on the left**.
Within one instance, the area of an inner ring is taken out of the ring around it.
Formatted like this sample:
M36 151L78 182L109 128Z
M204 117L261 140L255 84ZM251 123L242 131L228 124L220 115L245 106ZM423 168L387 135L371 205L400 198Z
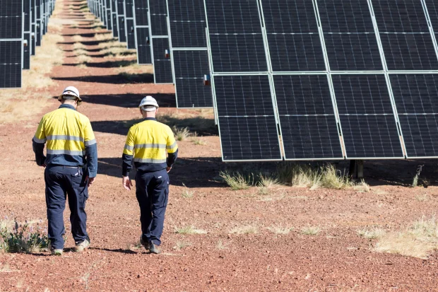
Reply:
M88 182L83 168L66 166L47 166L45 170L47 220L49 221L49 240L54 249L64 248L66 230L64 228L64 209L66 194L69 195L71 233L75 243L88 238L85 201L88 199Z

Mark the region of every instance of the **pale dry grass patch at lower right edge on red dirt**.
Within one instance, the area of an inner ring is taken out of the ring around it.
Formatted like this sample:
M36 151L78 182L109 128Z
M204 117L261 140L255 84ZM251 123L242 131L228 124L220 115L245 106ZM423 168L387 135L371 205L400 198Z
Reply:
M383 235L374 247L377 252L389 252L409 257L427 258L438 249L438 222L435 216L422 216L404 230Z

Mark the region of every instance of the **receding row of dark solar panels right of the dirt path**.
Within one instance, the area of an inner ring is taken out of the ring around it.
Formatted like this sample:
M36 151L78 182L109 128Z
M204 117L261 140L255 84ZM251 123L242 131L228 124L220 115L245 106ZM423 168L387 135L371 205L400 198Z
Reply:
M223 160L438 156L432 0L124 4L155 83L217 107Z

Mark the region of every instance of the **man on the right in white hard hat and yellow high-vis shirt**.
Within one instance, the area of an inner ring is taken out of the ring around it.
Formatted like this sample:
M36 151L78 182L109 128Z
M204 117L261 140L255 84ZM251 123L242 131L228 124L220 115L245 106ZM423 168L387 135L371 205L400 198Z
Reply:
M169 196L168 173L177 160L178 146L170 127L155 119L158 112L155 98L146 96L138 107L143 122L134 124L126 138L122 156L123 186L131 190L129 172L134 158L136 197L140 206L140 243L150 253L158 254Z

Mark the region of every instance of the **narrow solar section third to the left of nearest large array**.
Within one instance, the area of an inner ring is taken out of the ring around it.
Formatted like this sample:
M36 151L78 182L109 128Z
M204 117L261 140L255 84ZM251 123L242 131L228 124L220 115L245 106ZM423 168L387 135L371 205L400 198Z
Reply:
M148 0L134 1L134 26L138 64L152 64L150 51L150 29L148 22Z

